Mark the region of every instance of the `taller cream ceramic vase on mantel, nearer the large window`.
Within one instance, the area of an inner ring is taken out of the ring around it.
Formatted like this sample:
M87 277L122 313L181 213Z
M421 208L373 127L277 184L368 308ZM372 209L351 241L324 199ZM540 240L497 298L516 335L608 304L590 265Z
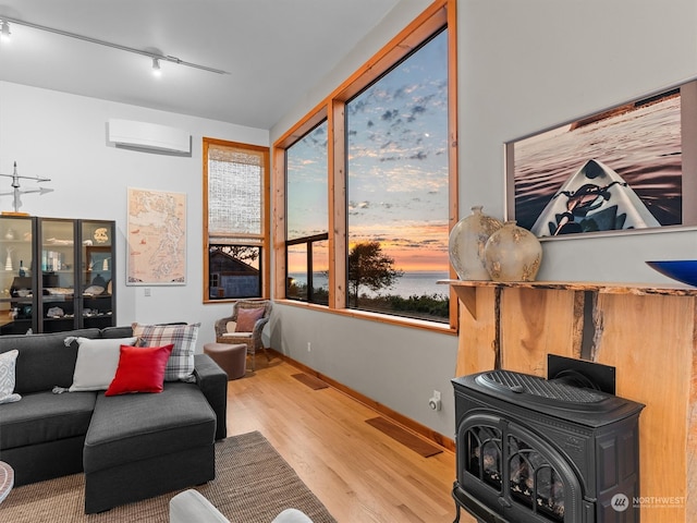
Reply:
M450 263L461 280L490 280L485 266L484 248L489 236L503 226L499 220L482 212L481 206L472 208L472 214L450 231L448 251Z

